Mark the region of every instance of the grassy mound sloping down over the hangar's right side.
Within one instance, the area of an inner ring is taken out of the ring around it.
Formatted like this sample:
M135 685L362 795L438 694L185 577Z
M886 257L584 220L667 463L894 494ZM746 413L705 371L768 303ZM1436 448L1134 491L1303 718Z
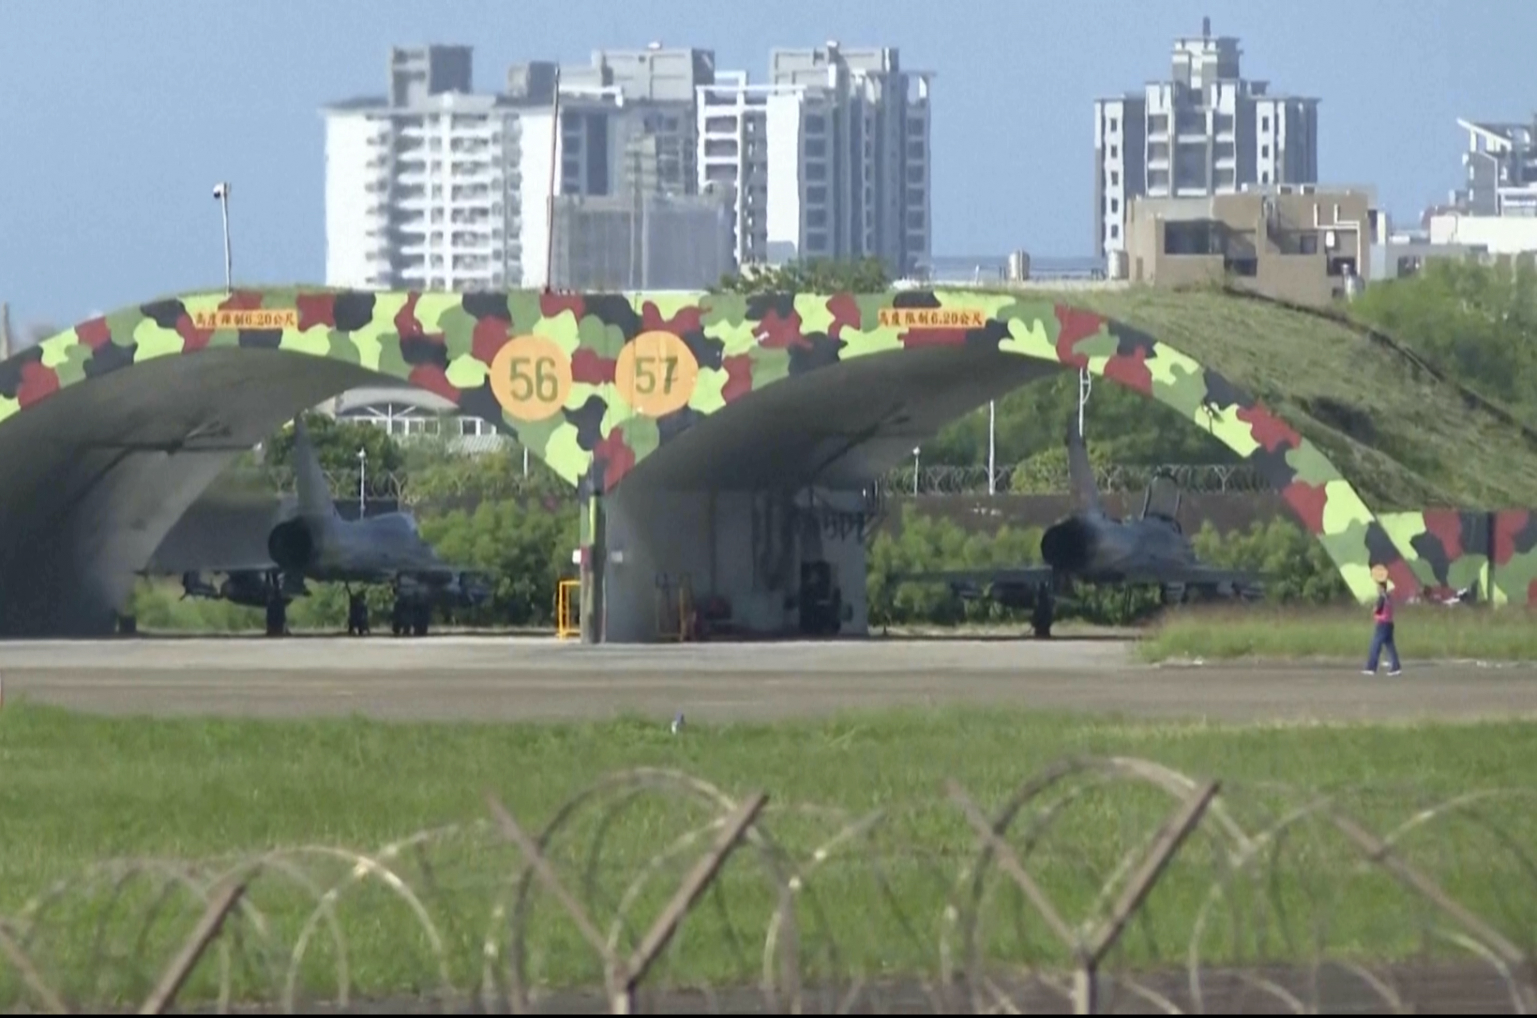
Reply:
M1245 386L1323 449L1377 512L1537 504L1537 444L1345 324L1216 291L1084 291Z

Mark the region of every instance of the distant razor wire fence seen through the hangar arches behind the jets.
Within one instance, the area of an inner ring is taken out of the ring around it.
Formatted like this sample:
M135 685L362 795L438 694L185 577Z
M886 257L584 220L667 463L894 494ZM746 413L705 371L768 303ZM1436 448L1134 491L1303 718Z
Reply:
M1104 492L1142 492L1162 474L1174 480L1179 487L1196 495L1223 494L1257 494L1271 491L1262 477L1250 464L1173 464L1173 466L1110 466L1096 467L1096 481ZM1005 466L993 472L993 491L996 494L1062 494L1068 491L1067 469L1042 469L1039 466ZM252 487L294 494L295 478L287 467L263 467L235 472L235 480ZM358 481L363 481L363 497L367 500L387 500L401 506L413 506L423 501L421 489L413 487L410 475L401 471L327 471L326 481L330 484L332 497L338 501L355 500L358 497ZM913 495L915 471L911 466L898 467L885 474L879 484L893 497ZM985 495L988 492L988 471L985 466L921 466L916 471L918 495ZM1021 481L1021 489L1014 483ZM520 491L538 491L543 481L533 478L515 478ZM475 477L438 478L433 481L433 497L463 498L476 494L480 481Z

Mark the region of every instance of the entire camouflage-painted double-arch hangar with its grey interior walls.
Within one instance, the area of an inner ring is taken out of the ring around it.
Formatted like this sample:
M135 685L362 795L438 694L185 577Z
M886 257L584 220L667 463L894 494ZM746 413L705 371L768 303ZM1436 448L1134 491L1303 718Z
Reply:
M1379 518L1325 455L1220 374L1062 304L879 295L192 294L81 323L0 363L0 634L109 630L135 569L231 458L378 375L493 421L584 500L587 640L656 637L689 577L738 626L793 630L828 563L864 632L867 478L947 421L1062 369L1159 400L1256 466L1360 598L1480 583L1526 603L1520 514ZM1534 575L1526 575L1532 572Z

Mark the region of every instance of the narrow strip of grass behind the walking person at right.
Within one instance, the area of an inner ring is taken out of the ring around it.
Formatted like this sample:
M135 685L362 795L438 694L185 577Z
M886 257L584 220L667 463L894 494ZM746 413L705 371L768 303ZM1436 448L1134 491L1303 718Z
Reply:
M1537 661L1537 624L1520 609L1400 607L1394 641L1405 663ZM1371 615L1360 607L1199 607L1171 612L1137 643L1145 661L1360 658Z

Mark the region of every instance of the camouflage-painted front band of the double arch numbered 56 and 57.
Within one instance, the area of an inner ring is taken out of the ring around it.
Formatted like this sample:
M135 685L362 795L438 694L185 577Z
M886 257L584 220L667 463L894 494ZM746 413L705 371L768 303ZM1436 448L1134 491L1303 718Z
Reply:
M1400 595L1417 586L1349 481L1250 394L1144 332L1011 294L192 294L92 318L0 363L0 423L91 377L218 348L330 357L410 381L501 424L584 498L612 491L727 403L855 357L970 348L1087 368L1174 408L1253 463L1359 598L1373 597L1379 563ZM669 398L655 397L664 355L681 371ZM655 398L641 395L646 372ZM518 381L529 397L516 395Z

